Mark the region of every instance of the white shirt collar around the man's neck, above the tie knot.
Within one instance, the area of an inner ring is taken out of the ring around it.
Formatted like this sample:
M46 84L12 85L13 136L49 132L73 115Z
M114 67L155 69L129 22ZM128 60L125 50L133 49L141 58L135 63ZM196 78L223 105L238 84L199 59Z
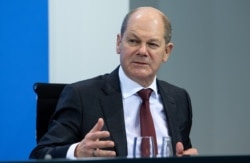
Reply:
M123 71L122 67L119 67L119 78L121 83L121 91L122 91L122 97L127 98L129 96L132 96L136 94L139 90L143 89L140 84L136 83L135 81L131 80ZM157 86L156 86L156 77L154 78L151 85L149 85L147 88L151 88L153 90L152 96L157 97Z

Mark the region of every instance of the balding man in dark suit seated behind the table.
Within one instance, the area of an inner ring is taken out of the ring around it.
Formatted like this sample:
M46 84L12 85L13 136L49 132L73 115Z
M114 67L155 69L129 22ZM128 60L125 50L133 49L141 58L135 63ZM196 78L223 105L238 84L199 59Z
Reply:
M117 35L120 66L110 74L69 84L63 90L48 132L30 158L131 156L140 136L137 91L153 90L150 108L158 149L170 136L176 156L196 155L190 141L192 108L188 93L156 78L173 49L168 18L140 7L124 18Z

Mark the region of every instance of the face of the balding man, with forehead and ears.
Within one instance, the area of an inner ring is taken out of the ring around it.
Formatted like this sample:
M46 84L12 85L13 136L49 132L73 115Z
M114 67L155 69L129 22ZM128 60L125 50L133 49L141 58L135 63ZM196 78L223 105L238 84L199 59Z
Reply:
M164 25L156 14L133 14L123 36L117 36L121 66L128 77L139 83L152 82L172 46L166 44Z

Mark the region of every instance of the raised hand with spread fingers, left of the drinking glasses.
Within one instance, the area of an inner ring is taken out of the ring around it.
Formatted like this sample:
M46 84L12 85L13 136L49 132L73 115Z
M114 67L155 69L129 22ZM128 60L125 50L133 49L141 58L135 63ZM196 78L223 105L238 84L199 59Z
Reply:
M104 121L99 118L95 126L82 139L75 149L75 157L114 157L115 151L102 150L102 148L114 147L115 143L111 140L100 140L110 136L108 131L101 131Z

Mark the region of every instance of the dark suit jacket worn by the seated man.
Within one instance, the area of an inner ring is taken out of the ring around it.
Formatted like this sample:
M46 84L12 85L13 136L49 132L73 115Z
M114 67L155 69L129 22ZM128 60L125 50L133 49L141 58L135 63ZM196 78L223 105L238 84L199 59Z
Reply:
M176 86L157 79L167 116L173 150L181 141L190 148L192 108L188 93ZM117 156L127 156L127 141L118 68L112 73L69 84L63 90L48 132L32 150L30 158L65 158L69 146L81 141L96 124L104 119L103 130L110 132L115 142Z

